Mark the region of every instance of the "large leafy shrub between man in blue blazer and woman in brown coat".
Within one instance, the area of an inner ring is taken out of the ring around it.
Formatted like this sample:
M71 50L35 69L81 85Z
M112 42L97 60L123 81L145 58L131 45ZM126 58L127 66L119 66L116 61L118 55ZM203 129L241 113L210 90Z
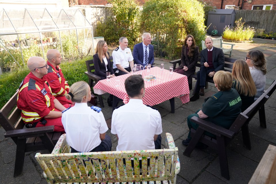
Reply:
M150 32L156 53L165 51L173 59L175 49L183 45L187 34L194 36L196 45L205 38L203 5L197 0L149 0L141 12L141 32Z

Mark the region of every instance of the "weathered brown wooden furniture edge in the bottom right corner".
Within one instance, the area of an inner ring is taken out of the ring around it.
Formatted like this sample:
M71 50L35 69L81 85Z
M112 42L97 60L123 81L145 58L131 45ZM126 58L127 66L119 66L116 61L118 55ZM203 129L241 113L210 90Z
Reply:
M274 184L276 181L276 146L269 145L248 184Z

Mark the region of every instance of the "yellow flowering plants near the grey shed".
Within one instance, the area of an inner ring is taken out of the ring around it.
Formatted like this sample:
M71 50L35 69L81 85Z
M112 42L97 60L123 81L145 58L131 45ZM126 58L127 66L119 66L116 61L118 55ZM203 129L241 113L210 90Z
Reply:
M235 28L225 26L222 33L222 37L224 39L232 41L249 41L253 38L255 34L253 27L244 27L244 22L242 22L242 18L236 20L235 24L237 25L237 27Z

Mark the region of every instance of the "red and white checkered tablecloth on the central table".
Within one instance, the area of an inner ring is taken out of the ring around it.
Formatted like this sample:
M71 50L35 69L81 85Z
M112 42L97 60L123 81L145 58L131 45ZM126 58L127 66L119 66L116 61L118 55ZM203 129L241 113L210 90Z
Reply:
M154 81L145 81L145 96L143 97L144 104L154 106L163 101L179 96L183 104L190 101L187 76L175 72L170 74L168 70L160 70L159 67L152 67L150 72L142 70L140 71L140 74L143 77L147 75L154 75L156 77L156 80ZM93 87L94 93L99 95L110 93L123 99L123 102L127 104L129 102L129 96L124 88L124 81L131 75L133 74L130 73L116 76L111 78L110 81L107 81L106 79L101 80ZM120 79L119 87L116 87L116 78Z

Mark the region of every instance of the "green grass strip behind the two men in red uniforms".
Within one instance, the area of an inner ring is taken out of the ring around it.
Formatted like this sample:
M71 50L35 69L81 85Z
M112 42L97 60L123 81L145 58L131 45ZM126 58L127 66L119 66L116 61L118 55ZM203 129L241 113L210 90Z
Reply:
M87 71L85 60L89 59L91 59L91 57L72 62L66 61L60 64L62 73L69 85L78 81L88 82L88 77L84 72ZM0 109L7 103L12 95L14 95L16 89L19 88L21 82L29 72L30 70L25 66L0 75Z

